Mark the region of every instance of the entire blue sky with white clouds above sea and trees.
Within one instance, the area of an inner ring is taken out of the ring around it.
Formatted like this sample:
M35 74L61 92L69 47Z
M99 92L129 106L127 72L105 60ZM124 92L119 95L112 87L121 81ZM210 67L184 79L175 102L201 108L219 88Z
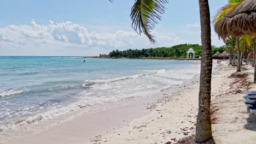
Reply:
M0 56L97 56L115 49L200 44L199 2L171 0L152 34L131 27L134 0L0 2ZM228 0L209 0L211 19ZM212 45L224 45L212 28Z

